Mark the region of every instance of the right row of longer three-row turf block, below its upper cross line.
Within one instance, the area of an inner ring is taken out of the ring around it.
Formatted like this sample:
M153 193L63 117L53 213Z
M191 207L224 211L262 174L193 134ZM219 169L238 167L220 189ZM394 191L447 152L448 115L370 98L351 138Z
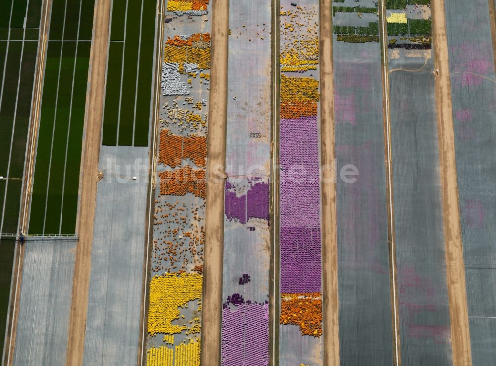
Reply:
M67 163L65 167L62 234L73 234L76 227L77 195L79 190L79 179L76 179L76 177L79 177L79 167L81 163L90 46L90 43L80 43L77 49L74 95L72 98L70 120L71 128L68 141L71 153L67 154Z

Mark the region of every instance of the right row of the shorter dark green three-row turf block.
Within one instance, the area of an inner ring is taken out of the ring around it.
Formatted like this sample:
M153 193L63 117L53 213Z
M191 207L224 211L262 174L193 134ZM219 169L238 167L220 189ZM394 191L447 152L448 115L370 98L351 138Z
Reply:
M148 146L156 5L155 0L145 0L143 3L143 19L145 21L141 24L134 146Z

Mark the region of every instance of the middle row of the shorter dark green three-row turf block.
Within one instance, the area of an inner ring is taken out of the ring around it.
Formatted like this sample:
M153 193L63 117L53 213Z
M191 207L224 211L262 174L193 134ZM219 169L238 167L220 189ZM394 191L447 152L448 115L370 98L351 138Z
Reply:
M119 119L119 145L132 146L134 128L134 99L138 73L139 26L141 1L127 4L126 36L124 44L124 75L121 88L121 117Z

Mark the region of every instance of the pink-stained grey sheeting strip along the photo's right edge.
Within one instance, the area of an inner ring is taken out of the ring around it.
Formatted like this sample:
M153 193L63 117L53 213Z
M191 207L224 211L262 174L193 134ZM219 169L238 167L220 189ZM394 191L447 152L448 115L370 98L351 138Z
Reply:
M489 0L492 1L492 0ZM470 316L496 317L496 90L488 0L444 3ZM496 360L496 319L470 318L473 366Z

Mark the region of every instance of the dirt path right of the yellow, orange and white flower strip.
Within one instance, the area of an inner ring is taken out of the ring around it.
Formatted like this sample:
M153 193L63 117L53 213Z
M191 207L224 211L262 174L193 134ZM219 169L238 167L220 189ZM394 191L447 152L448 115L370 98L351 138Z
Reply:
M212 61L208 107L207 197L203 256L202 366L221 364L228 32L229 0L214 1L212 4Z

